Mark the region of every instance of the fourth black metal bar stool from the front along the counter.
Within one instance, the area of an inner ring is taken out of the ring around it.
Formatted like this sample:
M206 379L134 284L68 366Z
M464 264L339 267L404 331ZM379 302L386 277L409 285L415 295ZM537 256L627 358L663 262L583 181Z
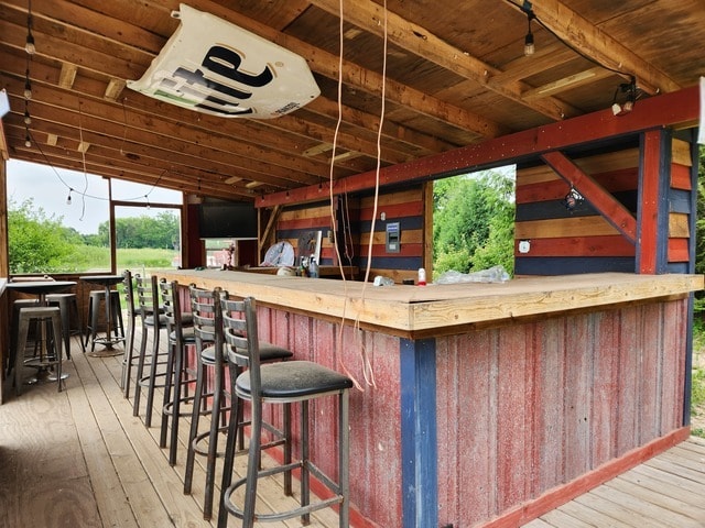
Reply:
M137 363L134 383L134 399L132 402L132 415L139 416L140 414L140 400L142 396L142 389L147 389L147 406L144 410L144 426L152 427L152 406L154 405L154 391L158 387L164 387L164 383L156 384L158 377L164 377L165 372L158 374L156 370L159 365L164 365L164 361L160 361L160 330L166 329L169 319L159 306L159 287L156 275L152 275L150 278L142 277L139 274L134 275L134 298L137 300L138 312L140 315L140 321L142 323L142 341L140 343L140 353ZM147 341L149 329L152 329L152 354L149 363L150 373L144 375L144 366L147 360ZM162 356L163 359L163 356Z

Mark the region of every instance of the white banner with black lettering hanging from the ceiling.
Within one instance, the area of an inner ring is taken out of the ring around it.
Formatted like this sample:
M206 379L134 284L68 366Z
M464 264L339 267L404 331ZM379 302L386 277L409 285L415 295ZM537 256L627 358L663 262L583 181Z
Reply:
M172 15L178 29L129 88L199 112L250 119L284 116L321 94L295 53L183 3Z

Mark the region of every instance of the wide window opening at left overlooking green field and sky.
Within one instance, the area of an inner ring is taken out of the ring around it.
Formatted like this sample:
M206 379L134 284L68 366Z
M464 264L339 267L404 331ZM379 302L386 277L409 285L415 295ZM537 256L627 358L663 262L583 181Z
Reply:
M13 160L7 168L11 274L110 272L111 195L118 246L148 244L161 255L154 266L180 264L181 193ZM169 243L155 240L158 231ZM126 254L116 257L118 270L127 267ZM156 262L144 252L140 261Z

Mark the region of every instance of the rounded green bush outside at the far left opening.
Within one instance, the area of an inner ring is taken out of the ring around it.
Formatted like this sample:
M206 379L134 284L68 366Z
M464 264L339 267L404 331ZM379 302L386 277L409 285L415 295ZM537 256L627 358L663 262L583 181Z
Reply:
M48 217L30 198L8 202L8 248L10 273L54 273L65 271L80 235L62 226L63 217Z

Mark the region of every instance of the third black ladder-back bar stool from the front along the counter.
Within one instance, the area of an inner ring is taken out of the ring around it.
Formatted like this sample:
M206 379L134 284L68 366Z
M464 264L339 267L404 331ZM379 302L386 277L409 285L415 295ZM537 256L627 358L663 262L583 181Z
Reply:
M178 447L178 419L189 417L191 413L182 413L181 404L194 399L188 396L189 378L187 346L196 344L194 336L193 316L181 309L178 283L176 280L159 282L161 297L160 307L166 317L169 333L169 353L166 358L166 373L164 377L164 400L162 405L162 427L160 431L160 448L166 447L166 436L171 419L171 440L169 446L169 464L176 464L176 448ZM182 393L182 389L184 392ZM172 395L173 391L173 395ZM183 395L182 395L183 394Z

